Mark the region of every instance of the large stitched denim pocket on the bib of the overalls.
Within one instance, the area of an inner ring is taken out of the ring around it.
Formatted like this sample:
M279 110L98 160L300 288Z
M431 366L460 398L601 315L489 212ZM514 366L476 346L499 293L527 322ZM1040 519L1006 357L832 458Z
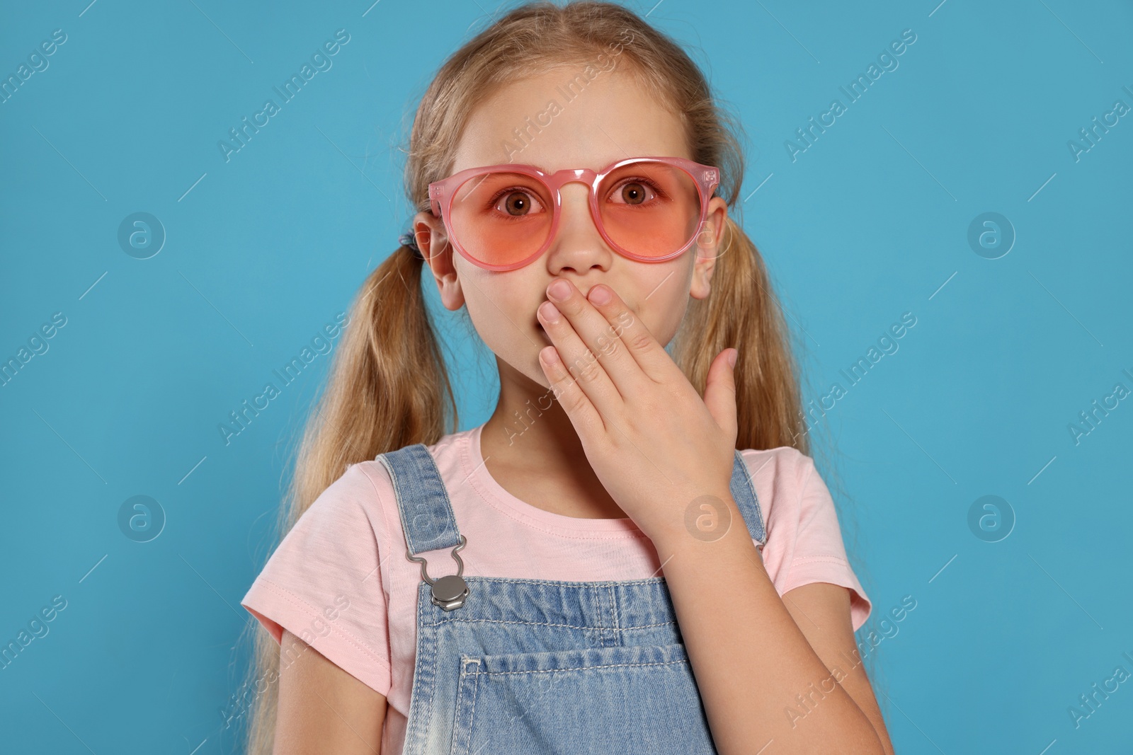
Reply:
M452 755L715 755L683 644L460 657Z

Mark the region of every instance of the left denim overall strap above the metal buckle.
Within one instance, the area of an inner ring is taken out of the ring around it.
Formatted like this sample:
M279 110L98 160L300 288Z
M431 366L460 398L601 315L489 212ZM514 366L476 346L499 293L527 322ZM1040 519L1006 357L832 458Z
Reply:
M417 443L378 454L377 461L385 465L393 480L409 554L416 556L426 550L460 544L460 531L449 491L425 444Z

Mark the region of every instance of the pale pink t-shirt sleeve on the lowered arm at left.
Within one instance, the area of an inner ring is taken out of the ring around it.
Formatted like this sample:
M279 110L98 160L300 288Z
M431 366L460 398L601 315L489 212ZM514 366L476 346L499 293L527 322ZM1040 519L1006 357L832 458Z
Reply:
M381 525L376 496L361 467L349 466L299 517L240 604L276 642L282 642L288 629L386 695L391 685L389 595L374 527ZM299 650L281 647L282 659Z

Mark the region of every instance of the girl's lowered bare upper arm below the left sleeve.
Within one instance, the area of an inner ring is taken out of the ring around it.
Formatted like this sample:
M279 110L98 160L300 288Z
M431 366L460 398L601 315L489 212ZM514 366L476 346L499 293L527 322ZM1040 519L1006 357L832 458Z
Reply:
M274 755L381 755L385 695L287 629L280 647L300 652L280 664Z

